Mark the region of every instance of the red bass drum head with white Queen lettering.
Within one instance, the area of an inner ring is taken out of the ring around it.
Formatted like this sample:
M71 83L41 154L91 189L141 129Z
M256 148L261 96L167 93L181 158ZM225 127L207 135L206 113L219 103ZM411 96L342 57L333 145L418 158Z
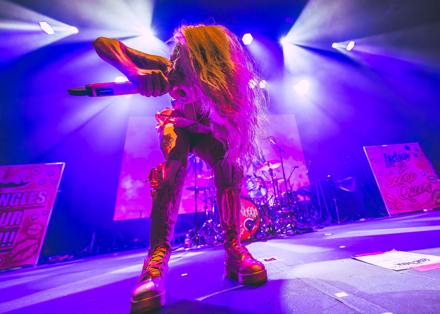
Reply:
M240 239L248 239L260 226L260 210L248 197L240 196Z

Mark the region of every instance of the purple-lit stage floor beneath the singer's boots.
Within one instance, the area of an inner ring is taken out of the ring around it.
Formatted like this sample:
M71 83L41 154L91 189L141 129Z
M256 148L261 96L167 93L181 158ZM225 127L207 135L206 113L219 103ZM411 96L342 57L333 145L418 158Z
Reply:
M440 211L247 246L257 259L277 259L266 264L267 283L252 287L224 279L221 246L174 252L158 313L440 313L440 270L394 271L351 258L393 248L440 256ZM126 251L3 272L0 313L128 313L145 254Z

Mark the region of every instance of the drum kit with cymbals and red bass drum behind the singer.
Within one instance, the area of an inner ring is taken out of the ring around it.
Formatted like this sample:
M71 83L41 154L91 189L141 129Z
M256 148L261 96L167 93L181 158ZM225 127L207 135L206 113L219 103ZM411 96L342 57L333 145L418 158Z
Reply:
M273 169L282 166L280 160L270 160L260 164L257 171L262 176L248 174L244 177L244 188L249 197L241 196L240 209L240 238L264 239L279 235L301 234L313 231L319 226L319 213L312 206L311 201L301 197L287 184L284 169L283 178L276 178ZM292 171L298 168L292 167ZM198 179L209 180L213 177L211 171L197 175ZM197 182L197 179L196 179ZM205 181L206 182L206 181ZM282 186L285 187L282 192ZM188 231L184 247L199 247L203 245L219 245L223 242L220 217L217 211L216 190L210 184L206 186L190 186L187 190L194 191L195 200L203 202L205 222L198 228L197 219L195 228ZM244 189L242 189L245 192ZM195 201L197 203L197 201ZM197 213L197 204L196 213ZM196 214L197 217L197 214Z

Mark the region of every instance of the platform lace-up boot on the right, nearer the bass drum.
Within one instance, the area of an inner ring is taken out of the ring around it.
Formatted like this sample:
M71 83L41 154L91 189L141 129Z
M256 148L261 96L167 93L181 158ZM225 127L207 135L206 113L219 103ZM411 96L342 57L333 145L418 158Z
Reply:
M254 259L240 242L242 172L224 160L218 161L213 166L213 171L224 238L224 276L238 279L245 285L266 281L268 275L263 263Z

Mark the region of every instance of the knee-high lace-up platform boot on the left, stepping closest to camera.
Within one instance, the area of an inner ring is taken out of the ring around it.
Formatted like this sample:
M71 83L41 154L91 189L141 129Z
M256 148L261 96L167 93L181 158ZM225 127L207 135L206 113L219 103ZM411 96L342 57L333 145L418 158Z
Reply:
M171 240L185 176L186 169L180 161L173 160L165 161L157 169L151 169L148 176L150 186L154 188L150 248L143 262L142 273L132 291L131 314L157 310L165 304L164 278L168 271Z

